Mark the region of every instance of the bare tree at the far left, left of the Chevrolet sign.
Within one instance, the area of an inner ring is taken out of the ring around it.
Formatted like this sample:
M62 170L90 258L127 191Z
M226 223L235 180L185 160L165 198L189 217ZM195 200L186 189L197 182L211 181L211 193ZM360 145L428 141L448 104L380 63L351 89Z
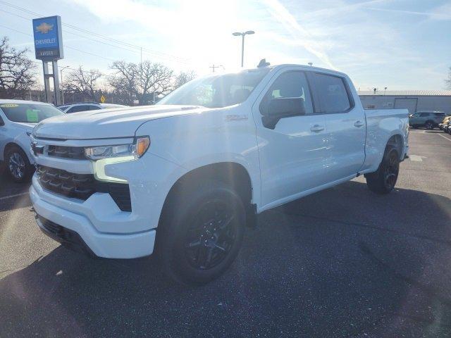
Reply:
M17 50L0 39L0 98L24 97L37 82L36 65L27 57L28 49Z

